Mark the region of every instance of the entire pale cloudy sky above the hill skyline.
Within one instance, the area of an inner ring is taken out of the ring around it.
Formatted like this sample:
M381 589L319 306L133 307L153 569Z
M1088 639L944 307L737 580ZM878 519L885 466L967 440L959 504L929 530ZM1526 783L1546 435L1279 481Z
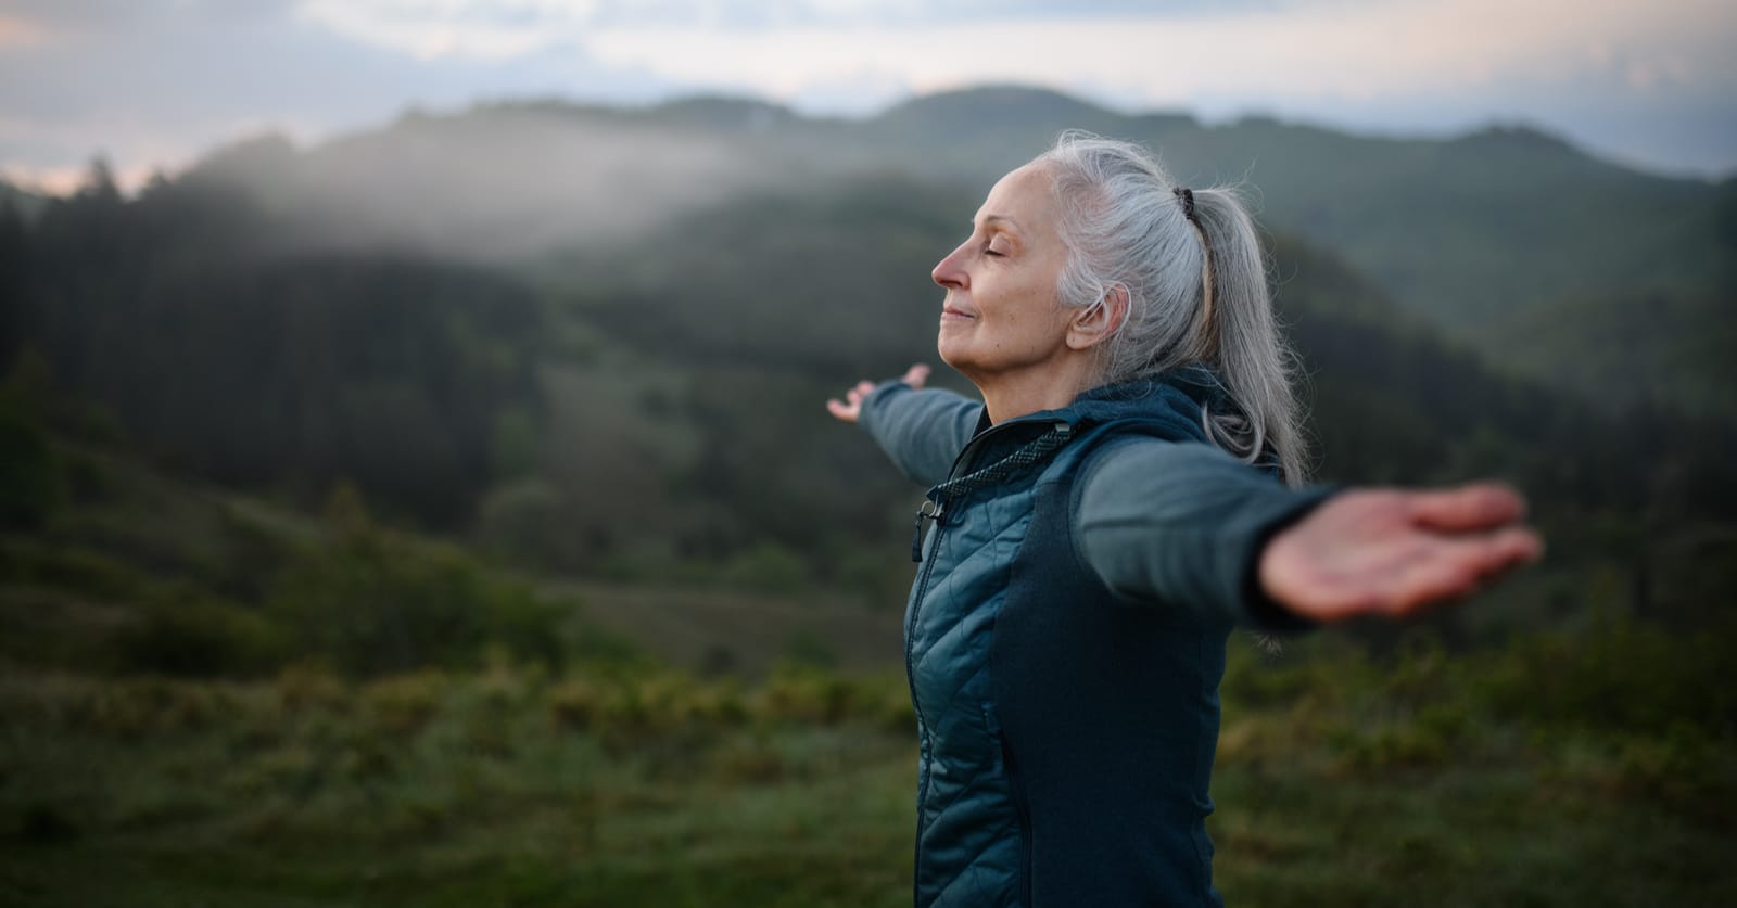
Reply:
M1369 134L1527 123L1737 174L1732 0L0 0L0 177L127 186L280 132L563 97L867 116L980 83Z

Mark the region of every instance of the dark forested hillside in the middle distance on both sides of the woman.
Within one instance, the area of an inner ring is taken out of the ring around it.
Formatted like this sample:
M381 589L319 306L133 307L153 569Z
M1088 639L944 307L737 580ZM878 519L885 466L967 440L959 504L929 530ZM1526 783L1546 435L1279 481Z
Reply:
M76 505L76 484L36 495L64 472L47 432L309 509L351 483L538 571L898 602L915 490L820 401L933 358L928 273L976 201L882 168L490 264L318 243L208 172L135 200L99 182L0 229L0 351L14 398L94 401L118 431L0 408L3 510L28 531ZM1728 425L1506 378L1334 252L1277 234L1273 253L1325 479L1503 476L1553 531L1562 595L1655 585L1589 569L1614 564L1669 576L1648 608L1721 601Z

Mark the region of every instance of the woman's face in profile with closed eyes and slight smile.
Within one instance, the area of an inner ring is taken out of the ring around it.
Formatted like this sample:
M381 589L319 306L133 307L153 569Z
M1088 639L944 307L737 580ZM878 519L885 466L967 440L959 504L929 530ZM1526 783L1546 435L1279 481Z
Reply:
M935 266L935 283L947 288L936 347L978 385L1046 370L1067 352L1058 214L1047 170L1025 165L990 189L971 236Z

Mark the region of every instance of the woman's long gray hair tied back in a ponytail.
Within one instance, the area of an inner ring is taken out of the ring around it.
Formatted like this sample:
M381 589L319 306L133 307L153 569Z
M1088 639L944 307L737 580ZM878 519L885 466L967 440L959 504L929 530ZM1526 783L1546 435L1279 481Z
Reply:
M1202 410L1207 436L1245 462L1277 460L1287 483L1301 483L1294 356L1278 335L1266 259L1237 189L1192 189L1185 205L1145 148L1077 130L1034 163L1047 167L1061 203L1061 304L1086 309L1117 288L1127 293L1127 318L1101 345L1100 380L1211 366L1232 408Z

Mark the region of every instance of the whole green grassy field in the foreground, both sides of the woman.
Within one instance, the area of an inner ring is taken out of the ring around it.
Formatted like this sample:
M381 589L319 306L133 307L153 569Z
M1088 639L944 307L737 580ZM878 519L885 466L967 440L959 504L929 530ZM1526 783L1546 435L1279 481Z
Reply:
M1737 899L1713 639L1612 622L1471 656L1331 635L1232 656L1211 823L1232 905ZM910 898L898 674L31 672L0 717L7 905Z

